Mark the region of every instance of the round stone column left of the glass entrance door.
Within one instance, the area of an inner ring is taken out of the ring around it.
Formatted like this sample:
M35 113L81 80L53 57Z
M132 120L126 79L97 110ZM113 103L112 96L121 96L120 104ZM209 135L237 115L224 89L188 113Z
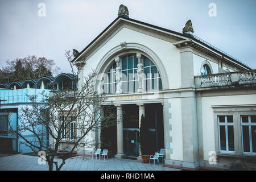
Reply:
M123 109L122 105L117 105L117 154L115 158L123 158Z

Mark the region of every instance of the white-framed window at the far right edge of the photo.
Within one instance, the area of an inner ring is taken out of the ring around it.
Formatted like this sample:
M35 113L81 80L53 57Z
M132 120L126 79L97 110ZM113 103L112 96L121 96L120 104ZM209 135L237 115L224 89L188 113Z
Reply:
M256 115L241 115L243 154L256 154Z

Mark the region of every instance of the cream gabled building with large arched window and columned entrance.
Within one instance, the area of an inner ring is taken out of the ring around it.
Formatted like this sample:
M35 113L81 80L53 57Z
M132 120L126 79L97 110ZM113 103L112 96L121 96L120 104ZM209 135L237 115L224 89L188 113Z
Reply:
M255 70L193 35L190 20L174 32L130 19L121 5L73 63L79 86L94 69L95 89L126 114L116 126L115 157L141 155L143 114L166 166L229 168L239 159L255 169ZM100 131L90 137L99 141Z

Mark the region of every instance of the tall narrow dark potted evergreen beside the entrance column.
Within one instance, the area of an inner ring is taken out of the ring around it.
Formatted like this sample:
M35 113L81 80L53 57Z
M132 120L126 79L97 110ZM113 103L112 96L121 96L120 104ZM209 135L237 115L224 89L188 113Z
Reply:
M139 142L141 144L141 156L143 163L148 163L151 155L150 128L144 115L141 116L141 128L139 129Z

